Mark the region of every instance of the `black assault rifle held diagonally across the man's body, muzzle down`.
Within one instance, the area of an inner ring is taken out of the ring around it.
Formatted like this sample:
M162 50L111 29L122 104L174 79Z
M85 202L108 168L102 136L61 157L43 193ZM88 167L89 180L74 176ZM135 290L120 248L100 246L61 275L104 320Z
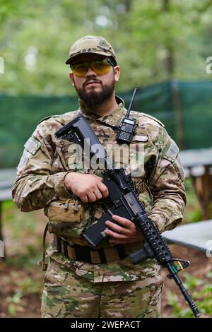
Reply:
M133 221L141 231L144 243L139 251L130 255L131 261L136 264L149 258L156 259L161 266L167 268L169 271L167 277L175 280L194 316L200 316L196 304L177 275L179 271L189 266L189 261L173 258L170 249L158 231L158 227L148 218L139 198L137 198L130 174L126 174L124 168L113 167L105 148L93 133L86 119L82 116L76 117L59 129L55 136L79 144L84 151L87 150L90 153L90 159L96 158L96 160L103 162L105 167L102 182L109 191L110 206L102 217L83 233L83 237L93 247L96 247L105 238L105 229L107 228L105 221L114 222L112 215L119 215Z

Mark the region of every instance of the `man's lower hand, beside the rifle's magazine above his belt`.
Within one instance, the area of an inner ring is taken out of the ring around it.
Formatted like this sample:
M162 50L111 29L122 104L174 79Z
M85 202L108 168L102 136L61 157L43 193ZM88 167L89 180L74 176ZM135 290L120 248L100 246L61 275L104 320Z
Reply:
M113 220L117 223L107 220L105 225L110 229L105 230L105 234L110 237L112 244L128 244L142 241L141 232L136 225L129 219L113 215Z

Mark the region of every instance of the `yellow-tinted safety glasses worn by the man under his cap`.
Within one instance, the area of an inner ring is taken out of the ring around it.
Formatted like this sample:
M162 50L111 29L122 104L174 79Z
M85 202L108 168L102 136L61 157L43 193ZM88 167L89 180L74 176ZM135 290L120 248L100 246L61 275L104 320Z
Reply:
M93 69L97 75L104 75L110 71L110 67L114 66L110 59L103 59L101 61L85 61L85 62L76 62L71 64L71 71L76 76L86 76L88 68Z

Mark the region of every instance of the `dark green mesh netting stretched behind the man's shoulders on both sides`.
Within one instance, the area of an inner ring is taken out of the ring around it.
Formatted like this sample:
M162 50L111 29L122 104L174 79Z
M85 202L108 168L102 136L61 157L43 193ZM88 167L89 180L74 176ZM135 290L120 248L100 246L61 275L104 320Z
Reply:
M129 105L133 90L117 93ZM78 108L68 96L0 95L0 167L16 167L37 122ZM212 82L165 82L139 88L132 109L160 119L179 147L212 146Z

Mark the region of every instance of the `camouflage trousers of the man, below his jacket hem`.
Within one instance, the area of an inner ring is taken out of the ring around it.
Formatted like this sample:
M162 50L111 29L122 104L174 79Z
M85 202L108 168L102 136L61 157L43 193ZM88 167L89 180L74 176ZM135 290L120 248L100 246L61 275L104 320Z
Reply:
M163 282L141 287L142 282L93 283L52 260L45 274L42 317L160 317Z

